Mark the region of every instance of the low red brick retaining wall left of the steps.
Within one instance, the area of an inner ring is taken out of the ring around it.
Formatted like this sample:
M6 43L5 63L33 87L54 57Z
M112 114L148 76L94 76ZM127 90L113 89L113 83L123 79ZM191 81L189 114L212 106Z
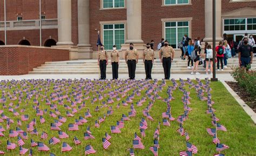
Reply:
M45 62L69 60L69 50L35 46L0 46L0 75L28 74Z

